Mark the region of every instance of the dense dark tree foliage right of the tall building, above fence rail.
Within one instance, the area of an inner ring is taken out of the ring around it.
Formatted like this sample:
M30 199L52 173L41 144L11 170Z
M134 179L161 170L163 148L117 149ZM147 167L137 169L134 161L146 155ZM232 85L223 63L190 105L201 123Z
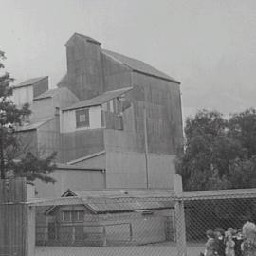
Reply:
M184 190L256 187L256 110L229 119L199 111L185 125L184 151L176 157Z

